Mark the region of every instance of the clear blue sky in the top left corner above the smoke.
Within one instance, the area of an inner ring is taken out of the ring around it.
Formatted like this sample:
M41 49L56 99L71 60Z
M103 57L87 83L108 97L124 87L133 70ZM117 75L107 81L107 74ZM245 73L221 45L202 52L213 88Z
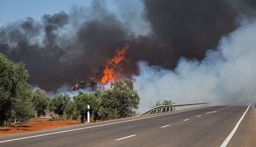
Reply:
M89 6L91 0L0 0L0 26L28 16L40 20L43 14L54 14L71 6Z

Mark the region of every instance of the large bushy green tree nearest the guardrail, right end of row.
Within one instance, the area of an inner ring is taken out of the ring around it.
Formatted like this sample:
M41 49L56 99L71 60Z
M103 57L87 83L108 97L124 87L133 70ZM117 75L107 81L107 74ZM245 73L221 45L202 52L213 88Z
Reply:
M140 97L134 89L133 80L113 81L110 89L103 91L103 103L99 114L102 119L114 119L117 110L117 118L135 115L139 108Z

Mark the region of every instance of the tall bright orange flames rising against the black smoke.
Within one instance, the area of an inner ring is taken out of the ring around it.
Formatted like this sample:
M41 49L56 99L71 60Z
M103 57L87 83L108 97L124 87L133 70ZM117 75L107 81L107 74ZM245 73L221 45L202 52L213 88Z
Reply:
M115 56L113 58L106 61L104 65L105 69L103 70L104 76L101 78L102 83L117 80L120 77L123 71L123 64L129 62L129 59L125 58L129 46L130 44L124 44L122 49L115 50Z

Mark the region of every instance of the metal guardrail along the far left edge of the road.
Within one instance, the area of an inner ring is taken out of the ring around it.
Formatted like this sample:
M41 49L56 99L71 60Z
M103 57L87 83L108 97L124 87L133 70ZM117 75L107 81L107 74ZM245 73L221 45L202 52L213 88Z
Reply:
M163 113L163 112L171 112L171 111L179 111L179 110L185 110L185 109L207 107L210 105L214 105L214 103L215 102L187 103L187 104L177 104L177 105L160 105L157 107L153 107L144 113L141 113L139 116L147 115L147 114L155 114L155 113Z

